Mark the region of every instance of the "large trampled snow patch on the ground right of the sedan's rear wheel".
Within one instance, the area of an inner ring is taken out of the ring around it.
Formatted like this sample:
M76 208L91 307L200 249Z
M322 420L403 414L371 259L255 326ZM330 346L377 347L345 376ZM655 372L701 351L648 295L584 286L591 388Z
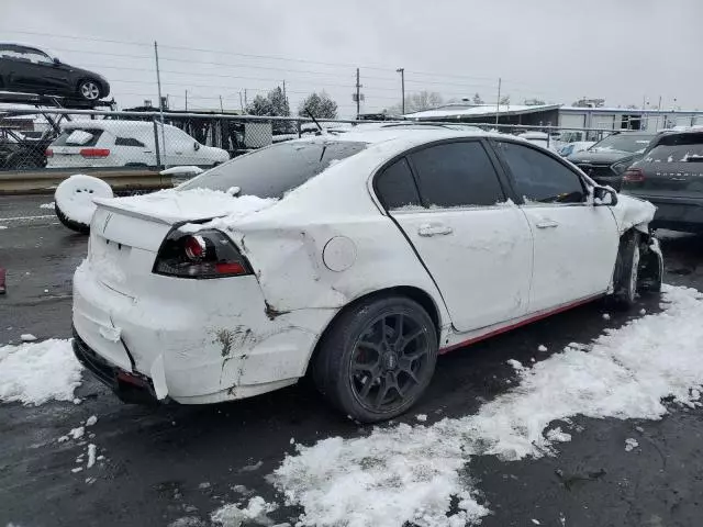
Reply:
M662 313L523 367L521 384L477 415L297 445L298 453L284 459L274 482L287 502L304 507L302 525L477 522L489 511L461 473L471 456L518 460L554 453L553 442L570 436L560 427L544 434L545 428L577 414L656 419L667 412L662 397L700 405L703 296L688 288L665 285L663 291L669 303ZM447 516L453 496L459 512Z

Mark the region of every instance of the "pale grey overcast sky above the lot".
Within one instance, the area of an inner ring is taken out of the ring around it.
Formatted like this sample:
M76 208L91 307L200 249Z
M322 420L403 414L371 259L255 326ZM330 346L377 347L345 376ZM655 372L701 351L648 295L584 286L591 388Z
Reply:
M703 108L702 20L703 0L0 0L0 38L101 72L121 108L156 102L158 41L171 108L188 90L189 108L220 108L222 96L238 109L239 92L286 80L293 110L325 89L344 116L357 66L362 111L400 101L401 67L406 92L445 99L494 102L502 77L512 103L651 108L661 96L666 109Z

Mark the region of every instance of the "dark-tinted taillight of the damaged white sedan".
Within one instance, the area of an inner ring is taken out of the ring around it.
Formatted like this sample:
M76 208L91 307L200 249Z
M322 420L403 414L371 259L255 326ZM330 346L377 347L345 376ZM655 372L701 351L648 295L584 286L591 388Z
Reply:
M237 247L216 229L196 234L171 231L158 249L153 271L179 278L224 278L250 274Z

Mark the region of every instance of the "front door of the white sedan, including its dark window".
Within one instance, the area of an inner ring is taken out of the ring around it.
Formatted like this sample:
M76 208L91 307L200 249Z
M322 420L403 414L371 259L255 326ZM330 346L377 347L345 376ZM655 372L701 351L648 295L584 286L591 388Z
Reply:
M534 238L529 312L604 293L618 246L615 218L594 206L581 176L556 156L496 141Z

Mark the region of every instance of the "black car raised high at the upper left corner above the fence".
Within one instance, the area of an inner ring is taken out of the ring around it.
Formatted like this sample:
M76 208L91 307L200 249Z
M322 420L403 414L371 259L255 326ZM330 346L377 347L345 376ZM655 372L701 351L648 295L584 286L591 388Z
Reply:
M62 63L37 47L0 43L0 90L94 102L110 94L100 75Z

